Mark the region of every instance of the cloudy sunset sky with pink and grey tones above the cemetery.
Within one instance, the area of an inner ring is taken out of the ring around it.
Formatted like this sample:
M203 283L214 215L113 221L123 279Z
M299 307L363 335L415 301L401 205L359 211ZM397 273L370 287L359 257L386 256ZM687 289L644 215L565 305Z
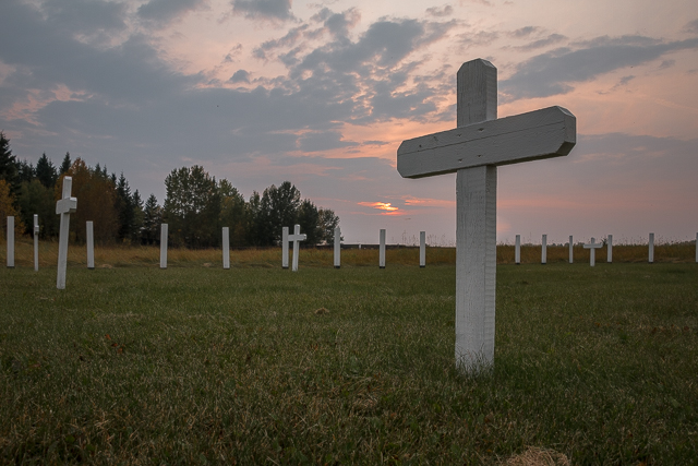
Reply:
M695 0L2 0L0 131L165 200L201 165L245 199L291 181L345 242L455 243L455 175L404 179L401 141L456 127L456 72L498 117L557 105L566 157L498 168L497 241L696 238ZM80 200L79 200L80 204ZM280 226L279 226L280 228Z

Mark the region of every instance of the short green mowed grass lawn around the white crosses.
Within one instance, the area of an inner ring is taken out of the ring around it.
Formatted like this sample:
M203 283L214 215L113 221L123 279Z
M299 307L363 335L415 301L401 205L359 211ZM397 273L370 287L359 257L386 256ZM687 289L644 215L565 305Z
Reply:
M698 264L500 265L496 302L464 377L453 265L3 267L0 463L698 461Z

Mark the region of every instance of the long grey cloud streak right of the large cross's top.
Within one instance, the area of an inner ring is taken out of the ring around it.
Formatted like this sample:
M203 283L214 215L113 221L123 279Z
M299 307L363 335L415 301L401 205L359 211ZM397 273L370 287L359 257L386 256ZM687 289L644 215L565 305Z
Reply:
M538 55L521 63L500 82L506 100L566 94L574 84L588 82L612 71L636 67L665 53L697 49L698 38L661 41L643 36L597 37Z

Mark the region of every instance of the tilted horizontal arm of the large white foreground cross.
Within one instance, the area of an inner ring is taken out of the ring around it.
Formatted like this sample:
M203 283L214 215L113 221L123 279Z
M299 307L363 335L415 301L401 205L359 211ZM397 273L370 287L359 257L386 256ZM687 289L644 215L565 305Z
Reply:
M562 107L486 120L404 141L397 170L421 178L482 165L508 165L569 154L577 119Z

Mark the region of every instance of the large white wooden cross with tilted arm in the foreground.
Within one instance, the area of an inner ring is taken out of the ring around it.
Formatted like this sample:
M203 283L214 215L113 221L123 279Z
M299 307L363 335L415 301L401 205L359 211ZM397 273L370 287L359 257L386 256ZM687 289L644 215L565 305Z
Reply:
M494 360L497 166L567 155L576 119L550 107L497 118L496 68L473 60L458 70L455 130L404 141L405 178L456 172L456 366L477 371Z

